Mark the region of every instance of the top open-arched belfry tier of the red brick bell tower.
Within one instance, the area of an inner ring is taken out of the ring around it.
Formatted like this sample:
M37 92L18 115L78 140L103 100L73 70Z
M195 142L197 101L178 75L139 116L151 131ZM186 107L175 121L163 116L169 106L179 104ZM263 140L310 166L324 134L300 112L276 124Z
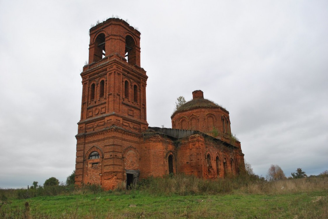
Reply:
M90 29L89 65L111 54L140 67L140 32L122 19L109 18Z

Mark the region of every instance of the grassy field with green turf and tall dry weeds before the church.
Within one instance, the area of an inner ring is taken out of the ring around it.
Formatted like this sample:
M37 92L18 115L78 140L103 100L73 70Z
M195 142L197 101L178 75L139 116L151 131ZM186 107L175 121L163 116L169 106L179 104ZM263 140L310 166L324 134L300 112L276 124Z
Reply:
M0 189L0 218L327 218L327 185L326 175L268 182L242 174L213 181L151 177L130 190L55 186L63 188L59 195L31 198Z

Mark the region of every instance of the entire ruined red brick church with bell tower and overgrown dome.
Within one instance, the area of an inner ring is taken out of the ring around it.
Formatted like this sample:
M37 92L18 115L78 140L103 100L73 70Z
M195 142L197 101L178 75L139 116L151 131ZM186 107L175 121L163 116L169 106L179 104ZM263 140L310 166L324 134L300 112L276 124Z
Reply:
M140 32L124 20L110 18L90 29L89 63L81 77L76 185L114 189L170 173L215 179L244 168L229 112L204 99L201 90L173 113L172 129L148 127Z

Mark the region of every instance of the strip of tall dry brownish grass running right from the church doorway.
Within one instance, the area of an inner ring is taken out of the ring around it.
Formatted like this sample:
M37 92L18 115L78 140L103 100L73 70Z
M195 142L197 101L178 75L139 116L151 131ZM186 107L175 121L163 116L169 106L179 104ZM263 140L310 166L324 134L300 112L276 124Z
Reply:
M295 192L328 191L328 177L285 179L268 182L256 175L238 175L216 180L199 179L193 175L149 177L138 183L138 190L150 194L286 194Z

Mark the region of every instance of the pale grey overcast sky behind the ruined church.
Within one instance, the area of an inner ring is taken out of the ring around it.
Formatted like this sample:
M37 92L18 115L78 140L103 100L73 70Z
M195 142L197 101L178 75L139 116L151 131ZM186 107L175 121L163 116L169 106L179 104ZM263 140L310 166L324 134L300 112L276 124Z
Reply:
M0 0L0 188L75 169L88 31L112 16L141 32L149 126L203 90L256 174L328 169L327 0Z

